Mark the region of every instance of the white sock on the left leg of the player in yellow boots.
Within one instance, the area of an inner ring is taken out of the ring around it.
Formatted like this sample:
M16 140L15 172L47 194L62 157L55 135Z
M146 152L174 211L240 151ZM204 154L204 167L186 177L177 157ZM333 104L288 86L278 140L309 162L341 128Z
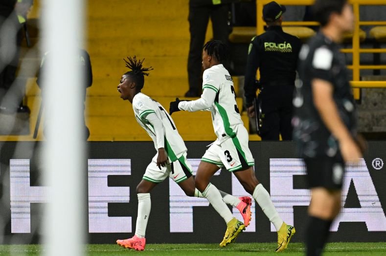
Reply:
M209 185L203 192L203 195L213 206L214 210L216 210L216 212L223 217L225 223L228 223L233 219L233 215L225 204L225 202L223 201L219 190L213 184L209 183Z

